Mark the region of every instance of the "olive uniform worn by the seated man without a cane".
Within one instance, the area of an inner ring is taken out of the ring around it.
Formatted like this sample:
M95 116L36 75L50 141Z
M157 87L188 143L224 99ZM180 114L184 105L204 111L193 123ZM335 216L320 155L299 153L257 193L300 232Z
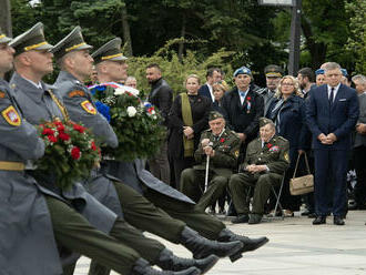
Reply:
M250 173L245 167L251 164L267 165L268 171ZM252 213L263 215L264 204L271 192L271 186L279 184L283 173L289 165L288 142L274 135L268 143L261 138L252 141L246 150L246 156L240 166L240 173L232 175L230 191L238 215L248 214L248 189L254 187Z

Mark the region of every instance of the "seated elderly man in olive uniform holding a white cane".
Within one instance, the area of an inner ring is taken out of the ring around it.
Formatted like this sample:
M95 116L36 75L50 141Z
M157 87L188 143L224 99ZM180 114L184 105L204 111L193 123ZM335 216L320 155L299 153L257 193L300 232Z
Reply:
M202 211L216 202L226 190L241 146L238 135L225 129L225 119L221 113L211 112L209 124L210 129L202 133L199 149L194 153L197 165L185 169L181 175L181 192L197 202L196 207ZM207 160L210 183L204 192Z

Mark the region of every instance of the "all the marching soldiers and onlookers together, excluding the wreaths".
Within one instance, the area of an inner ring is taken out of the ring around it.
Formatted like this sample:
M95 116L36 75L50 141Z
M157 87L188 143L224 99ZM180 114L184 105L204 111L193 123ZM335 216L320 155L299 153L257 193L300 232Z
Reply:
M104 146L118 149L114 125L98 111L85 82L92 78L139 88L136 79L128 77L120 38L93 53L92 49L80 27L55 45L47 41L42 23L14 39L0 31L0 267L4 274L73 274L80 255L92 258L89 274L105 275L110 269L200 275L220 257L235 262L268 240L235 234L207 208L215 210L218 201L224 213L227 201L236 212L233 223L261 223L272 210L271 187L284 179L282 204L292 216L301 198L288 193L288 181L303 154L314 160L314 203L307 195L308 214L316 217L313 224L325 223L331 213L334 224L344 224L352 147L357 207L365 206L366 80L353 77L356 92L335 62L316 71L318 84L308 68L299 70L296 79L267 65L264 89L254 84L246 67L235 70L232 90L223 71L211 68L203 85L196 74L187 75L186 91L175 99L159 64L150 64L148 100L167 129L159 152L148 165L140 159L105 156L88 177L72 182L70 189L60 187L53 171L40 172L33 165L52 143L40 139L37 126L82 122ZM42 79L53 71L53 60L60 73L50 85ZM4 75L11 70L7 82ZM109 89L115 94L114 88ZM175 256L143 231L183 245L193 257Z

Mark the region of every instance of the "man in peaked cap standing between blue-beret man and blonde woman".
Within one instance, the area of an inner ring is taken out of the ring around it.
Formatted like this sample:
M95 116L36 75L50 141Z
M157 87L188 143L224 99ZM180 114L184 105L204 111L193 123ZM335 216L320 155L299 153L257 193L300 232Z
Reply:
M264 115L266 115L267 110L274 100L273 95L275 94L279 80L283 75L283 70L279 65L270 64L264 68L266 88L263 88L256 91L263 96L264 100Z

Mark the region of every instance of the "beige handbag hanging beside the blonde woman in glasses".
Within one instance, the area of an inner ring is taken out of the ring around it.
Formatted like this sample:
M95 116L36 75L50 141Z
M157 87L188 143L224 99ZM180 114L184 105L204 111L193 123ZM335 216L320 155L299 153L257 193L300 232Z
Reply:
M299 154L297 156L293 179L289 180L289 193L292 195L303 195L303 194L307 194L307 193L311 193L311 192L314 191L314 176L311 174L311 170L308 167L306 153L304 155L305 155L305 164L306 164L306 169L307 169L307 175L295 177L296 172L297 172L298 161L299 161L299 157L301 157L301 154Z

